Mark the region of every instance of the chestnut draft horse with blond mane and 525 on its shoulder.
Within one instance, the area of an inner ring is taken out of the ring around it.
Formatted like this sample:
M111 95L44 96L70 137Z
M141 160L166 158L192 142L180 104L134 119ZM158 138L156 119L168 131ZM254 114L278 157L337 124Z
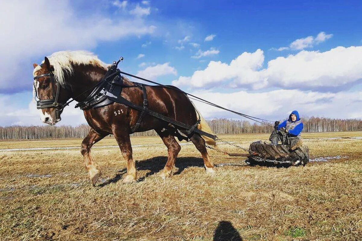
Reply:
M38 97L39 102L46 105L39 109L41 121L55 125L61 120L60 115L64 108L64 106L58 108L58 103L66 103L71 98L82 102L92 91L92 88L89 88L101 81L110 65L106 65L96 55L87 51L59 51L45 57L42 64L33 64L33 67L34 95ZM121 78L124 85L134 84L123 76ZM205 119L199 115L194 104L183 92L176 88L160 86L146 86L146 91L149 109L190 126L197 123L199 116L201 122L199 121L197 128L212 133ZM142 105L144 100L143 91L139 88L123 88L121 96L138 105ZM54 100L54 103L52 101L49 103L49 100ZM126 160L127 173L122 181L135 182L137 174L135 161L132 158L130 134L132 126L135 126L139 120L140 111L114 102L104 107L84 109L83 112L91 129L81 143L81 154L92 185L94 186L100 179L101 169L90 150L95 143L109 134L114 135ZM146 115L136 130L136 132L155 130L167 147L167 163L159 173L163 179L171 177L172 168L181 150L170 126L165 121ZM206 143L216 146L216 142L195 132L189 135L189 139L201 153L206 172L213 173L214 164L207 153Z

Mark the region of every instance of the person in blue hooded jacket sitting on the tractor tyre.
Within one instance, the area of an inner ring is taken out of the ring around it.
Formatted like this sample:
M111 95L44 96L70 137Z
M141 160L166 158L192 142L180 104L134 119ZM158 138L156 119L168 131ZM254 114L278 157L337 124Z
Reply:
M269 138L271 145L278 145L278 142L281 141L284 145L294 146L300 140L300 133L304 125L300 120L298 111L292 111L288 120L275 127L276 131L274 130Z

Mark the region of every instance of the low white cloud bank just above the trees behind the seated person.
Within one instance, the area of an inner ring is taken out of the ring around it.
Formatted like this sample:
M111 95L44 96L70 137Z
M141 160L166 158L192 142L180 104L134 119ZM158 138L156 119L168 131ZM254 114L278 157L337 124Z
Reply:
M262 93L193 92L192 94L220 106L269 120L285 119L296 109L303 116L362 118L362 91L321 93L300 90L273 90ZM221 109L194 101L205 118L239 118ZM336 111L338 110L338 111Z

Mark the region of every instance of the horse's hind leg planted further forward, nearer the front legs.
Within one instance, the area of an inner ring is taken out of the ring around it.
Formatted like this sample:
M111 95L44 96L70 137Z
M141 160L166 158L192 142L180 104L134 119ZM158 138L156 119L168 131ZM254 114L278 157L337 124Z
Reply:
M165 179L167 177L170 177L172 174L172 168L175 164L175 160L177 158L178 152L180 152L180 150L181 150L181 146L178 144L175 137L173 135L169 134L169 132L167 130L165 130L164 132L161 132L160 130L156 130L156 132L161 137L161 139L162 139L163 143L165 144L165 146L167 147L167 151L168 151L167 163L166 163L165 167L163 168L163 170L160 172L160 176L162 177L162 179Z

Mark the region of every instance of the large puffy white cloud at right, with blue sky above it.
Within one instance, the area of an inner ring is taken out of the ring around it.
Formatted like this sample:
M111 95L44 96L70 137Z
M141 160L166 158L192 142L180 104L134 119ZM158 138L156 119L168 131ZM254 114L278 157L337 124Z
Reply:
M262 50L244 52L230 64L210 61L206 69L195 71L190 77L181 76L172 83L199 88L229 85L341 91L342 87L362 80L362 46L337 47L326 52L301 51L270 60L265 69L263 64Z

